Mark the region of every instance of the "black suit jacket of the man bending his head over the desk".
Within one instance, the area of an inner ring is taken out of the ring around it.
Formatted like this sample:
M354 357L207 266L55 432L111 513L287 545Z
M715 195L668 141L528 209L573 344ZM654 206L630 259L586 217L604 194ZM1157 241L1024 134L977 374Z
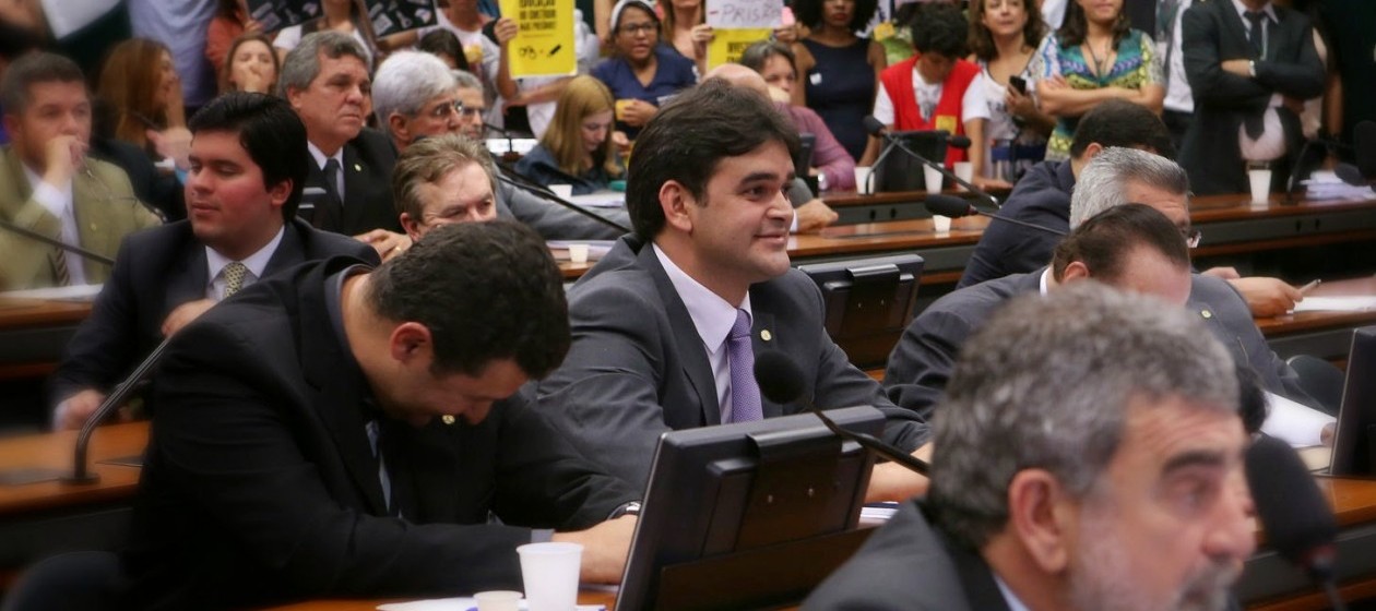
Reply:
M369 409L326 306L330 274L359 263L257 282L173 339L124 555L131 607L519 589L526 527L585 528L636 497L519 396L477 425ZM403 517L384 504L372 418Z

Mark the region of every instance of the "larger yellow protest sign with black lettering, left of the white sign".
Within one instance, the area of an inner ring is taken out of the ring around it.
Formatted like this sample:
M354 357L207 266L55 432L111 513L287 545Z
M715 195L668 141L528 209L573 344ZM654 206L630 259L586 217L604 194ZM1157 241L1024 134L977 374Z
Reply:
M574 3L566 0L501 0L502 15L516 19L520 33L506 45L513 78L568 76L578 72L574 51Z

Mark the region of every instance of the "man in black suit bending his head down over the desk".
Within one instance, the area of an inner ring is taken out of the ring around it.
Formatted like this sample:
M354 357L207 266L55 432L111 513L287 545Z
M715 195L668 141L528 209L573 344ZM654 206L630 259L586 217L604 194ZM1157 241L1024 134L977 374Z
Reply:
M160 374L131 607L513 589L516 546L549 538L583 544L583 581L619 579L636 520L608 517L636 493L513 396L568 341L555 260L504 220L212 308Z

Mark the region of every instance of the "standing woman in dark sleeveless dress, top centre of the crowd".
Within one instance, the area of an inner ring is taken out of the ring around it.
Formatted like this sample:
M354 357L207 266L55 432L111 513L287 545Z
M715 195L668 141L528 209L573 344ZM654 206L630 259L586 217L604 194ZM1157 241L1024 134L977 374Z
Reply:
M864 154L864 117L888 67L883 47L856 36L874 18L877 0L797 0L793 11L810 33L794 45L804 87L794 103L816 110L852 158Z

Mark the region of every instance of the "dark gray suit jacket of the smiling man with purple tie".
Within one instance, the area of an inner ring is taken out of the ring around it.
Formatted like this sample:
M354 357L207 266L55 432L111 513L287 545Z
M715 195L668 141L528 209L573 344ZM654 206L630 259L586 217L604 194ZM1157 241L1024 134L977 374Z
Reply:
M885 436L904 450L926 439L926 424L889 403L827 337L821 294L801 271L751 286L750 304L755 354L777 350L793 358L808 373L806 399L823 409L879 407L889 417ZM538 392L541 409L583 455L641 484L660 433L721 422L702 337L648 244L622 237L568 290L568 312L572 348ZM766 418L805 410L762 400Z

